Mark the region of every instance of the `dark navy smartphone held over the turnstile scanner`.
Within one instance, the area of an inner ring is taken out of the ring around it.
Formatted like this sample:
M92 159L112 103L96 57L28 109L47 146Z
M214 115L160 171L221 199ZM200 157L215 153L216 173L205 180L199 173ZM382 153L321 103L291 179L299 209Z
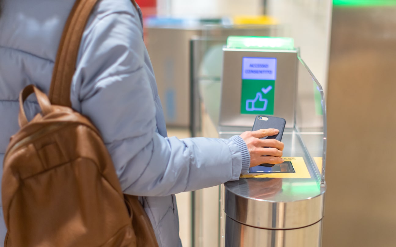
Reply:
M281 117L272 117L265 115L257 115L251 131L274 128L278 129L279 133L274 136L266 136L261 139L276 139L282 141L283 131L285 130L286 120ZM261 164L260 166L272 167L273 164Z

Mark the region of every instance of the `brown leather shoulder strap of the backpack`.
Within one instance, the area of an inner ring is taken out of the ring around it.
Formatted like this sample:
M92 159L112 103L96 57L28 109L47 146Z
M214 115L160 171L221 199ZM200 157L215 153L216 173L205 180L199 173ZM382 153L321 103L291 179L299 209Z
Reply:
M71 107L70 86L74 72L82 34L89 15L98 0L76 0L63 34L52 73L49 100L52 104Z

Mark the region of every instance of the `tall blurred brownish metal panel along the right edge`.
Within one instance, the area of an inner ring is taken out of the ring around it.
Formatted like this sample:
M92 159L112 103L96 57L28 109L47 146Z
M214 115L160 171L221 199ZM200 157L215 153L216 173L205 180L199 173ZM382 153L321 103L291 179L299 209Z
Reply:
M333 7L323 247L396 245L396 7Z

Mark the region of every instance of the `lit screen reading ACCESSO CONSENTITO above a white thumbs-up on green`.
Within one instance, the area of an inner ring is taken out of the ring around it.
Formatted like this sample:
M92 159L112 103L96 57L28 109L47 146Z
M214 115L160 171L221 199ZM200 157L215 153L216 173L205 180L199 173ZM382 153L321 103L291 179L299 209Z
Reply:
M274 115L276 58L242 58L242 114Z

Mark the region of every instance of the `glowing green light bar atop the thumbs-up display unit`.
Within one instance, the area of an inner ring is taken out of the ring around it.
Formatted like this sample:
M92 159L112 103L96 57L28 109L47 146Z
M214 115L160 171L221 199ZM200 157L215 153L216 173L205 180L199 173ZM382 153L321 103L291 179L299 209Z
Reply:
M229 36L227 48L294 50L294 40L284 37Z

